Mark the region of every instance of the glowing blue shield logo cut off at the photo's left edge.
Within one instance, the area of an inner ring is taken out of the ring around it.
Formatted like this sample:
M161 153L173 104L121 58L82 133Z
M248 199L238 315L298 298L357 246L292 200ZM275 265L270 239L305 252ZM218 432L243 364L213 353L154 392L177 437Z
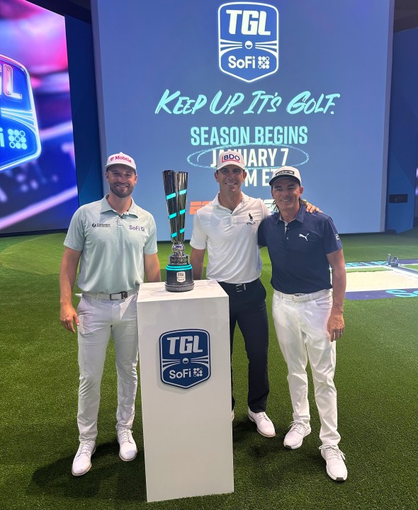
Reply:
M0 55L0 171L35 159L40 138L26 67Z

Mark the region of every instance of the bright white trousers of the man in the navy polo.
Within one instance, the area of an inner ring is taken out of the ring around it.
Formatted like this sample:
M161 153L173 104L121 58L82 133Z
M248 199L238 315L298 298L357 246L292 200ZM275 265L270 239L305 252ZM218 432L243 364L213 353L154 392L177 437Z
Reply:
M288 365L288 384L293 420L309 424L306 366L309 359L320 415L322 444L337 445L337 390L334 385L335 341L331 342L327 322L332 307L331 291L314 300L291 300L290 295L273 293L273 321L278 344ZM300 299L303 299L300 298Z

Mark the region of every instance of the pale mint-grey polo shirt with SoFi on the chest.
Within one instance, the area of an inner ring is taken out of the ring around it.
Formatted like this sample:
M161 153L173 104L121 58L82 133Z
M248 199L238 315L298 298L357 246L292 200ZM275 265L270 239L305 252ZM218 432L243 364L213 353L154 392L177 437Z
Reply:
M77 285L84 292L134 290L144 281L144 254L157 253L154 217L133 199L119 215L105 197L74 213L64 246L81 251Z

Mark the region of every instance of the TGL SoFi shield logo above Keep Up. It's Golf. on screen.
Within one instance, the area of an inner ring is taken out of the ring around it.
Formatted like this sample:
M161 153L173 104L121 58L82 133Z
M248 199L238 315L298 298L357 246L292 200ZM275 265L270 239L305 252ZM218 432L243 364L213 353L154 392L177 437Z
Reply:
M242 81L278 69L278 10L268 4L230 2L218 9L219 67Z

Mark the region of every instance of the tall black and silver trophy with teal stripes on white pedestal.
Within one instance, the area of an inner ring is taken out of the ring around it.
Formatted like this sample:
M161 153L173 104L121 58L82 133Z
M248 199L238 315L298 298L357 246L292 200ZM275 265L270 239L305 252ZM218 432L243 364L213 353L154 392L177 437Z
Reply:
M184 221L186 219L187 172L164 170L162 173L169 214L173 254L166 266L166 290L186 292L192 290L193 268L184 254Z

